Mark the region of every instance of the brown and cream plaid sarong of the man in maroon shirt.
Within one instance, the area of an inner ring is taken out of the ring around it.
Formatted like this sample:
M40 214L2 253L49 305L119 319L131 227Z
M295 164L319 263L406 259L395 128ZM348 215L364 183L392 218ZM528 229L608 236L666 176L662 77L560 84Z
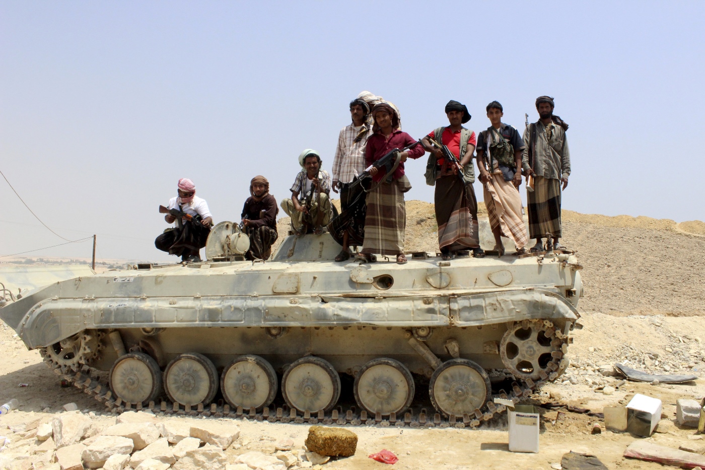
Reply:
M379 186L367 193L362 253L392 256L404 253L404 193L410 189L409 179L402 176L391 183L379 183Z

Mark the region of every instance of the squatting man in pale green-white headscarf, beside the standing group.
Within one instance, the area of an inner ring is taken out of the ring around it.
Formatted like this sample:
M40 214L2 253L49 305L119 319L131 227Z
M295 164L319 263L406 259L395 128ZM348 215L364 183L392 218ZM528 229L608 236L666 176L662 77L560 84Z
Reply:
M291 217L291 226L298 235L313 231L321 233L329 224L333 206L329 199L331 176L321 169L321 156L307 148L299 155L302 170L291 186L291 199L281 201L281 208Z

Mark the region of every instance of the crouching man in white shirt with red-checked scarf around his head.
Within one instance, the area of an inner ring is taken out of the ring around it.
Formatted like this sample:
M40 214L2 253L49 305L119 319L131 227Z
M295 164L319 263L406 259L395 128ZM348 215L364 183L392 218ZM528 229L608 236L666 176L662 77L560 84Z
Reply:
M178 196L169 200L167 208L185 212L192 219L178 218L171 214L164 216L168 224L176 222L176 226L157 236L154 246L170 255L180 256L182 261L200 261L199 251L206 246L213 224L208 203L196 195L196 187L190 179L182 178L178 181Z

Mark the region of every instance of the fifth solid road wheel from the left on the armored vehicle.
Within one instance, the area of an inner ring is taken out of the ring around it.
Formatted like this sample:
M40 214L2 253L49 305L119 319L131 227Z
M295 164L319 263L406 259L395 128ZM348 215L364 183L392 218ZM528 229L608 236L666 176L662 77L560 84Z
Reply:
M355 377L355 401L375 416L403 414L414 399L414 378L403 363L391 358L376 358L366 363Z

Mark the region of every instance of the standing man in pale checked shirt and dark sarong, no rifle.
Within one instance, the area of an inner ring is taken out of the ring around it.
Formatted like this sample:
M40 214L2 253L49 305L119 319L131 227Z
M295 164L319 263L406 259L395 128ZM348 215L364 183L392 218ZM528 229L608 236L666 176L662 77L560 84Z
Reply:
M367 138L372 135L372 126L367 119L369 111L369 104L360 98L350 102L350 117L353 122L341 130L336 156L333 159L332 188L336 193L341 192L341 211L344 216L342 219L345 219L341 219L331 230L333 238L343 246L341 253L336 256L338 262L348 260L348 247L362 245L364 238L364 193L356 191L356 187L351 185L364 171L364 149L367 146Z

